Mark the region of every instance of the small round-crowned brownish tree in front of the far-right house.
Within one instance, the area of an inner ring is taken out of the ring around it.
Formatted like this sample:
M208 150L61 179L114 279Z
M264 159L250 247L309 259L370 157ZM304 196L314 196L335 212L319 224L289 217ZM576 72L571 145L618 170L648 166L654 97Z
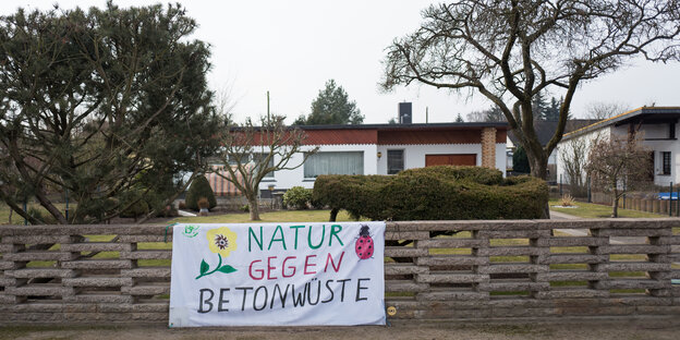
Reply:
M611 217L619 215L619 198L648 178L649 149L642 134L611 135L591 146L585 167L594 187L611 193Z

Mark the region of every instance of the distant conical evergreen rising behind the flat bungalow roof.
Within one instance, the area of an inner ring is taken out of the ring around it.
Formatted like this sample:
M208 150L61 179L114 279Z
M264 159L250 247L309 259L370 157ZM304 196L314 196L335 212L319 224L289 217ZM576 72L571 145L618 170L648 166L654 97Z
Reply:
M295 125L326 125L326 124L361 124L364 116L356 107L356 101L350 100L342 86L335 80L326 82L326 87L319 90L312 101L312 112L308 117L300 116Z

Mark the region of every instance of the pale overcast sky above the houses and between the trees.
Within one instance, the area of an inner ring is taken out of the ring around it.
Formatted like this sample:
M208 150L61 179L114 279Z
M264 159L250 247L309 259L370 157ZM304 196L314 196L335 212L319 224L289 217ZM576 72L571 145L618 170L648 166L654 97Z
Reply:
M413 122L452 122L458 113L488 108L481 95L412 84L382 93L385 49L415 31L426 0L179 1L199 27L191 38L211 45L210 87L229 94L236 121L270 109L291 123L308 114L312 101L333 78L355 100L364 123L387 123L400 101L413 102ZM19 7L49 10L104 7L106 0L1 0L0 15ZM120 0L120 7L153 1ZM165 2L163 2L165 3ZM627 68L583 84L571 112L584 117L593 102L680 106L680 63L635 60ZM426 114L426 111L428 112ZM426 118L427 117L427 118Z

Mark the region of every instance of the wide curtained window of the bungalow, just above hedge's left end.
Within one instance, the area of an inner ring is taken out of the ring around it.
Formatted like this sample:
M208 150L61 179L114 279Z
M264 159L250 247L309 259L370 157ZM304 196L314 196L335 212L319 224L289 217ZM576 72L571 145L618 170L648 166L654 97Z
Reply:
M317 153L304 163L306 179L319 174L364 174L364 153Z

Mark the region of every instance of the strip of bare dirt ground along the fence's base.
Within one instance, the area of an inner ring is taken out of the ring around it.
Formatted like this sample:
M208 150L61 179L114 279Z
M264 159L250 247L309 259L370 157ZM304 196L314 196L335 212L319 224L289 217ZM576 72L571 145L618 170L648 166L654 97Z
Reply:
M680 339L680 318L531 323L396 321L390 327L238 327L168 329L162 325L5 326L0 339Z

